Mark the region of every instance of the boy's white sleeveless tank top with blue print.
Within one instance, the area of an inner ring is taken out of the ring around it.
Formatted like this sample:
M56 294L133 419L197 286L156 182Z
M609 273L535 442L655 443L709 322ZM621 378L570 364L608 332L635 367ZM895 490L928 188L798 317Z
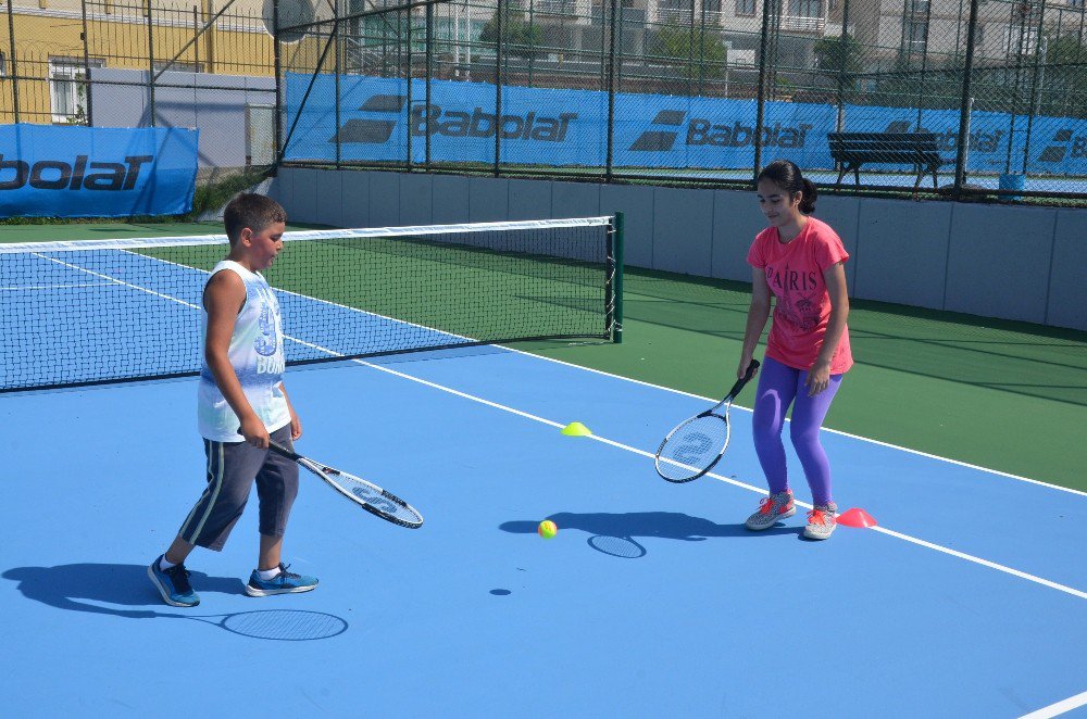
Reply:
M224 260L212 268L211 276L214 277L224 269L237 273L246 285L246 303L235 320L230 349L227 352L230 366L237 373L253 412L268 432L274 432L290 424L290 412L282 386L284 354L279 303L260 273L250 272L233 260ZM200 434L216 442L242 442L245 438L238 432L241 422L208 367L203 352L207 337L205 308L200 332L201 368L197 390Z

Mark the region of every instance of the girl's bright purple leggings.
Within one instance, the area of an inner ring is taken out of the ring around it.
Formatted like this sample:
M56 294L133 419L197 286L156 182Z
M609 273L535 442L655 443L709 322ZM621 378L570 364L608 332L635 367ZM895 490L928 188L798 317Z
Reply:
M804 468L814 504L826 504L830 502L830 463L819 441L819 430L841 384L841 375L832 375L829 387L815 396L808 396L808 388L804 387L807 377L805 370L787 367L771 357L763 361L751 417L754 449L770 491L776 494L789 489L782 430L785 428L785 415L792 404L789 426L792 446Z

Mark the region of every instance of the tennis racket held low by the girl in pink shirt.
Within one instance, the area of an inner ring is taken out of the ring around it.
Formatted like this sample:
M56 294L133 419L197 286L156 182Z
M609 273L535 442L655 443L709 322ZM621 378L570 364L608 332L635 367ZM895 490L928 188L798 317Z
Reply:
M713 469L728 446L728 409L758 368L759 361L752 360L747 374L736 380L724 400L669 432L657 450L658 475L670 482L682 483ZM722 407L724 412L719 412Z

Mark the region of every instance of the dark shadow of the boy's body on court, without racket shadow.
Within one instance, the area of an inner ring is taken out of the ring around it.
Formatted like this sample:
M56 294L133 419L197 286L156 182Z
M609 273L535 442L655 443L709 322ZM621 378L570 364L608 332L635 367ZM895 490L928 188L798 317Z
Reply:
M143 607L162 602L147 577L147 567L141 565L67 564L57 567L15 567L0 577L18 582L18 591L28 600L71 611L142 619L153 617L155 613L147 609L114 609L80 600L122 607ZM245 583L236 577L209 577L203 572L192 571L189 580L197 592L245 593Z

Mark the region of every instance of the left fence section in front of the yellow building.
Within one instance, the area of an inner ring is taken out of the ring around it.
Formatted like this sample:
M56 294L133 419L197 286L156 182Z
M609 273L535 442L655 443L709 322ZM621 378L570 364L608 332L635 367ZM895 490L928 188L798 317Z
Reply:
M223 10L9 0L0 123L199 128L195 207L215 206L275 157L275 42L260 9Z

